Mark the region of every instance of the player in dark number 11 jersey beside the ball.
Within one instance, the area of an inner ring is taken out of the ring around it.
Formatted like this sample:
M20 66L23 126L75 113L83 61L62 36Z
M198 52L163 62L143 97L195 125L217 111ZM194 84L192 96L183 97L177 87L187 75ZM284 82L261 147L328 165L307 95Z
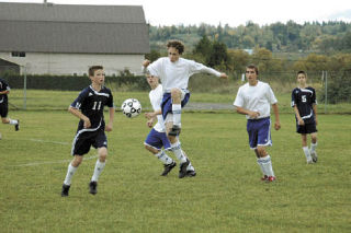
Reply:
M104 131L112 131L113 128L113 96L110 89L103 85L105 74L102 66L90 67L88 73L91 85L83 89L68 108L68 112L77 116L80 121L71 149L73 160L68 165L67 175L63 185L63 197L68 196L71 178L78 166L81 164L83 155L89 152L91 145L98 149L99 155L93 175L89 183L90 194L95 195L98 193L98 179L105 166L107 156L107 138ZM106 126L103 117L103 108L105 105L110 107L110 119Z

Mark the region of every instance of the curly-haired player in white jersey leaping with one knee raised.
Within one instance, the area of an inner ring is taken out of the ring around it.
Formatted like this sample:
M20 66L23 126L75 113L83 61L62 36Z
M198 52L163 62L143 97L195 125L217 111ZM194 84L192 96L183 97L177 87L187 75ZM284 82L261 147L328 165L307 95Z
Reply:
M168 139L172 151L180 161L179 177L186 175L190 161L184 155L178 137L181 131L181 112L190 98L188 90L189 78L194 73L205 72L227 79L227 74L193 60L181 58L184 45L179 40L170 40L167 44L168 57L162 57L150 63L145 60L143 66L151 75L159 77L163 86L161 103L162 117L166 121Z

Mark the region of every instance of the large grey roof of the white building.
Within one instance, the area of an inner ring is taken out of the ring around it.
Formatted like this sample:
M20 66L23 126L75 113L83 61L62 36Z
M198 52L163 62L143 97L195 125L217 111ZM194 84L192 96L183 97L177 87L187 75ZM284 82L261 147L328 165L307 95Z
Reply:
M140 5L0 2L0 51L147 54Z

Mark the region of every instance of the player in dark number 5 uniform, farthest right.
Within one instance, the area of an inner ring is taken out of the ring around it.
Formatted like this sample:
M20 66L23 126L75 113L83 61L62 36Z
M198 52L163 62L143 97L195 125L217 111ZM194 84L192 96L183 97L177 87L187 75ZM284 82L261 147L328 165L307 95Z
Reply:
M317 101L315 89L307 86L305 71L297 72L298 86L292 92L292 107L295 112L296 132L301 133L303 151L307 164L317 162ZM307 147L307 135L310 135L310 150Z

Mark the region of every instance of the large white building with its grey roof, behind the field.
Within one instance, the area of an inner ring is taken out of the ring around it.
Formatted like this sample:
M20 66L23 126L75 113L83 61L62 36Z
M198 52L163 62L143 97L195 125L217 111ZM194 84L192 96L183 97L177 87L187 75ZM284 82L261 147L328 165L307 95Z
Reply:
M27 74L139 74L150 49L140 5L0 2L0 59Z

